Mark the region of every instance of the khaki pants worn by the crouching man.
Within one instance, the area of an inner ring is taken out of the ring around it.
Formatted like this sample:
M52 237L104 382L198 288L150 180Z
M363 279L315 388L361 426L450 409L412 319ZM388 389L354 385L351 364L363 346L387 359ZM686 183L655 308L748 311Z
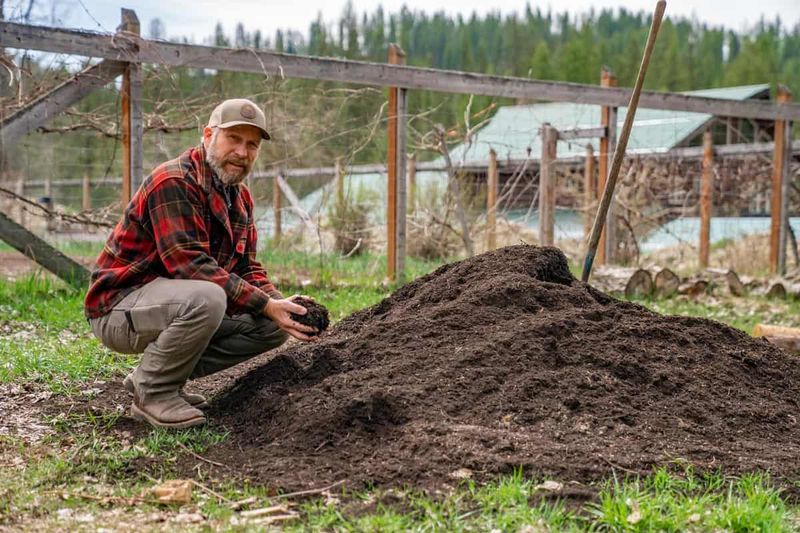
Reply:
M227 316L226 306L225 291L214 283L157 278L89 322L107 347L142 354L133 382L146 401L286 342L267 317Z

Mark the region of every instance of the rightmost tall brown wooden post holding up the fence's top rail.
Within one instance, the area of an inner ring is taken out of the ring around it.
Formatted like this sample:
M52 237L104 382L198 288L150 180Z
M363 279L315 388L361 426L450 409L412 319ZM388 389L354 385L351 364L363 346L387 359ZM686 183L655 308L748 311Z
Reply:
M778 102L786 103L792 93L783 85L778 86ZM775 151L772 156L772 198L770 205L769 268L773 274L784 274L786 270L786 188L788 187L789 157L791 155L791 121L775 121Z

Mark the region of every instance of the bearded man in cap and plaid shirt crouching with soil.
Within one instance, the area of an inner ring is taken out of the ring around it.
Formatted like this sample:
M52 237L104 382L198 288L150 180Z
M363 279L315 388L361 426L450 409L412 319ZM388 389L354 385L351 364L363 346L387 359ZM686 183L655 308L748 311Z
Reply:
M202 144L145 179L97 259L85 300L109 348L142 353L124 381L134 418L154 426L203 424L205 398L188 379L228 368L315 330L256 261L253 200L242 183L270 138L245 99L214 109Z

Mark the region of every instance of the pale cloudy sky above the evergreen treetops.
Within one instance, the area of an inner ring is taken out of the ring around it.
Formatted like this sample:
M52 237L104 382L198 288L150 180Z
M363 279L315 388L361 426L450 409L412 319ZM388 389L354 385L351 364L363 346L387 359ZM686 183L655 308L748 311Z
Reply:
M310 22L322 13L323 20L332 24L341 14L346 0L34 0L37 24L59 25L112 32L119 24L120 7L134 9L142 23L146 36L150 20L160 18L169 38L188 37L201 43L209 37L219 21L225 32L233 34L238 22L247 31L260 29L270 38L276 29L294 29L306 34ZM29 0L6 0L6 17L13 18L27 8ZM530 0L535 9L555 12L569 10L579 14L590 8L605 7L652 12L655 0L569 0L548 2ZM383 2L353 0L356 12L372 13L378 5L385 12L397 12L407 5L412 10L433 13L444 10L450 14L468 16L473 11L501 11L503 14L524 12L525 0L384 0ZM667 16L696 17L715 26L726 26L735 30L751 27L762 16L773 20L780 15L786 26L800 23L800 0L668 0Z

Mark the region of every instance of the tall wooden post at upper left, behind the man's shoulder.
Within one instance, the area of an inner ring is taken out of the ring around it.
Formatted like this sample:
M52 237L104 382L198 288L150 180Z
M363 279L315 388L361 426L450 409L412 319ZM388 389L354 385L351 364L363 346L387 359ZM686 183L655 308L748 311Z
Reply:
M133 10L122 8L121 31L139 35L139 18ZM141 184L143 173L142 74L138 63L128 63L122 74L122 196L123 207Z

